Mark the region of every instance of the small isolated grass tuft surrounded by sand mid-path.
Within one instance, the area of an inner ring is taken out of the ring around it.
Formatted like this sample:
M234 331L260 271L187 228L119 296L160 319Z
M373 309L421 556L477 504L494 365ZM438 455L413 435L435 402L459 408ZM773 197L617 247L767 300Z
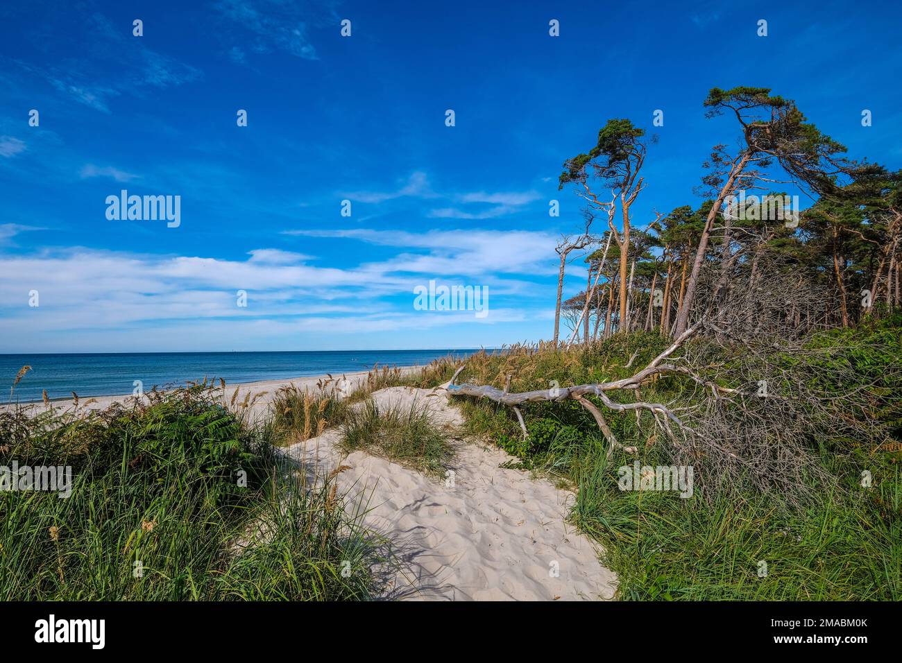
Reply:
M443 476L455 456L446 432L420 402L381 406L367 399L347 411L341 432L348 453L363 450L433 476Z

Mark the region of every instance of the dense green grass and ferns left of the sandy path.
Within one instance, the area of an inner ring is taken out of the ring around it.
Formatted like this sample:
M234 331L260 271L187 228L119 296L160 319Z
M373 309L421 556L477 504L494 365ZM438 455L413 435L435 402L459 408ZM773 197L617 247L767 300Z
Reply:
M198 385L89 415L0 413L0 465L71 465L74 478L66 499L0 493L0 599L370 597L359 517L328 481L286 478L272 426L250 428L219 395Z

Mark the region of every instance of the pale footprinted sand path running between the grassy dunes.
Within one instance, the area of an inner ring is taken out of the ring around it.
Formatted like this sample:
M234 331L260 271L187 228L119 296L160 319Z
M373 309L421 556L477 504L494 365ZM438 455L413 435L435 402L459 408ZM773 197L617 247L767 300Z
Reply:
M427 401L450 429L463 419L443 389L376 391L381 406ZM446 600L609 599L616 578L589 539L564 520L574 494L499 465L515 460L498 448L461 441L454 485L362 451L343 456L338 433L300 442L286 454L338 474L349 509L363 502L364 522L391 541L402 560L390 572L391 598Z

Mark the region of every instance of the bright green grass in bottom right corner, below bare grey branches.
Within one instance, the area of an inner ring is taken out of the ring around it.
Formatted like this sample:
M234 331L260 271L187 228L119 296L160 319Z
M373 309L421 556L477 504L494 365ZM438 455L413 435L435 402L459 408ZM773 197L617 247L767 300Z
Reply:
M822 493L803 511L776 495L621 492L603 458L580 477L576 525L606 548L630 600L887 600L902 596L902 481L897 465L863 488ZM655 464L655 459L643 458ZM839 472L839 467L834 467ZM759 576L760 562L767 574Z

